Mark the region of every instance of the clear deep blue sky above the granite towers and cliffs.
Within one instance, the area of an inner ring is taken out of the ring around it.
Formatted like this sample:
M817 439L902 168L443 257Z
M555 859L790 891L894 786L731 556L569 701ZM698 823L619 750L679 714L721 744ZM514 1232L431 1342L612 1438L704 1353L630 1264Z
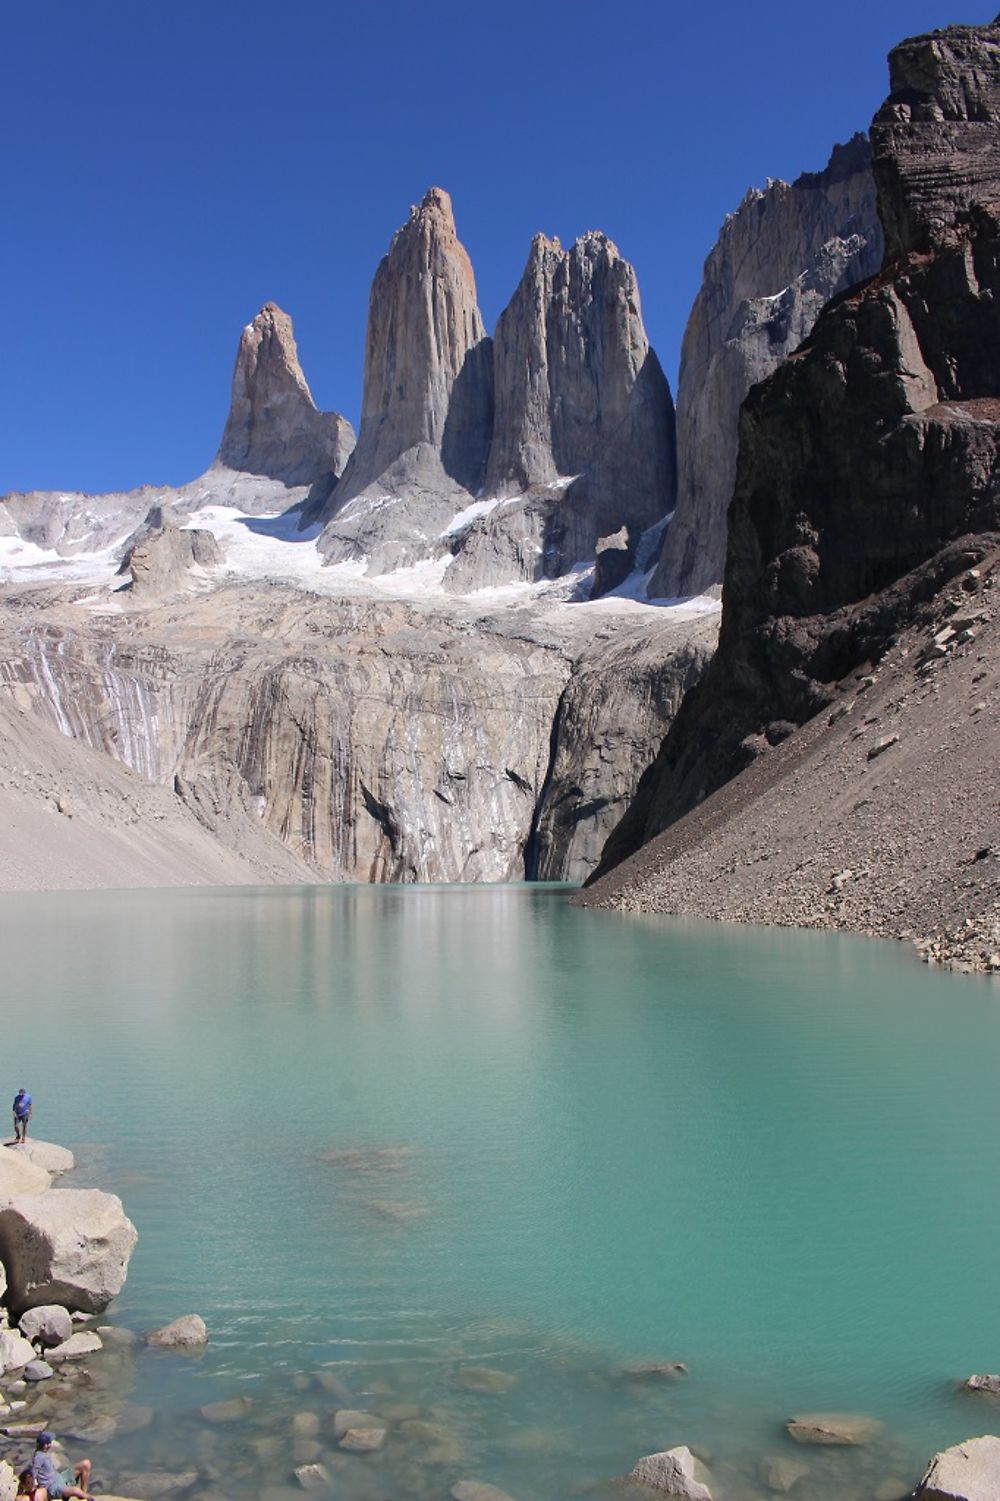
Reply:
M724 215L823 167L889 47L974 3L9 0L0 492L194 477L267 299L356 422L371 278L431 183L489 329L535 231L599 228L673 381Z

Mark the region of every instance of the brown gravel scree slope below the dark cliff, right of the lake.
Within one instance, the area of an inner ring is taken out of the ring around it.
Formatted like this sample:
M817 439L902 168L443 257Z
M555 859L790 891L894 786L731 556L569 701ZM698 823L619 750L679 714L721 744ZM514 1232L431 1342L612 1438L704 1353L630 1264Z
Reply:
M841 684L833 713L577 901L908 938L1000 971L998 617L992 552Z

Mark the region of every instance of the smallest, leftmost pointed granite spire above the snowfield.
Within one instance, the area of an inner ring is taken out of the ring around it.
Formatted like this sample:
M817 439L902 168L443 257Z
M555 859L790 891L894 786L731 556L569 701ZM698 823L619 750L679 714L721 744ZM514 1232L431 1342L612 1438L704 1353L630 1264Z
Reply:
M354 429L345 417L317 411L291 318L266 302L240 335L216 465L285 485L312 485L339 474L353 446Z

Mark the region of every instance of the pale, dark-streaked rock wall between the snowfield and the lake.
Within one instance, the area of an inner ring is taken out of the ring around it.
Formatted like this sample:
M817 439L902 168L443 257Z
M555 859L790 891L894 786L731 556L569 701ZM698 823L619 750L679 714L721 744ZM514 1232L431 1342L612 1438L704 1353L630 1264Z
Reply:
M716 627L239 581L125 614L86 597L9 602L0 707L171 788L222 850L252 826L356 881L586 874Z

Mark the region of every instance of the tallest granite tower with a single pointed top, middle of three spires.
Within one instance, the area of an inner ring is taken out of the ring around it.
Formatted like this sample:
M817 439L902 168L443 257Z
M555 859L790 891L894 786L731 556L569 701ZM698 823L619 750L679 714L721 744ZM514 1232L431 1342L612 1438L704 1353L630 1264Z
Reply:
M371 290L357 447L324 510L327 561L371 573L440 552L482 485L492 359L452 200L429 188L393 236Z

